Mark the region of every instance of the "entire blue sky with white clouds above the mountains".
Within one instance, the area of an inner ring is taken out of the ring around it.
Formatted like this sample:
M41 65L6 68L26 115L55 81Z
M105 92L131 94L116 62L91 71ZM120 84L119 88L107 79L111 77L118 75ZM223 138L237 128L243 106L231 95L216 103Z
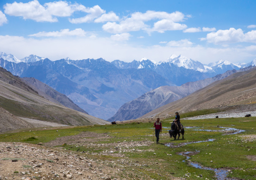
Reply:
M0 1L0 52L52 61L256 58L256 1Z

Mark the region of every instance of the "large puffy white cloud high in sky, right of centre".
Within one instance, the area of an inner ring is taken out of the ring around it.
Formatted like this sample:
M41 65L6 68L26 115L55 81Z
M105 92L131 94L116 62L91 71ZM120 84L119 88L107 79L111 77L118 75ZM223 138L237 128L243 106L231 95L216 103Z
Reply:
M166 13L166 12L155 12L147 11L146 13L133 13L130 18L124 18L119 23L107 22L102 26L102 29L108 33L127 33L132 31L145 30L147 32L157 31L163 33L164 31L183 30L186 25L180 24L187 17L180 13ZM146 22L156 21L153 28L150 27Z

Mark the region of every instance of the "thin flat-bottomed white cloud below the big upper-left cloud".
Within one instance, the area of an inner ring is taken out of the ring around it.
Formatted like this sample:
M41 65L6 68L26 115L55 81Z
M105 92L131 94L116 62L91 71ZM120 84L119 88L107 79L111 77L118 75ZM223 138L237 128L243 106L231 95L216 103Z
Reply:
M53 32L39 32L33 35L29 35L31 37L63 37L63 36L80 36L83 37L86 35L86 32L81 28L70 31L69 29L63 29L60 31Z

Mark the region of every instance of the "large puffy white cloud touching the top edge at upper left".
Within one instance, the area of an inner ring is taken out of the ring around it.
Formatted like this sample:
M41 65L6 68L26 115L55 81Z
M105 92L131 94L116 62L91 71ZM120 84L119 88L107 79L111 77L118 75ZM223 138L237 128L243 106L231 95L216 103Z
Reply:
M10 16L23 17L24 20L31 19L36 22L57 22L56 17L69 17L75 11L86 9L82 5L68 4L67 2L58 1L40 5L37 0L28 3L6 4L5 13Z

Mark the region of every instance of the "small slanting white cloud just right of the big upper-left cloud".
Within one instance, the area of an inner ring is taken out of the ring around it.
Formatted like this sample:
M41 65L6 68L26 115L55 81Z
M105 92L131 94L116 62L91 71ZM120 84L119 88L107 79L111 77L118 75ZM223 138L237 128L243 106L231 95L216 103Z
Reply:
M100 17L103 13L106 12L105 10L102 10L98 5L96 5L92 8L86 8L83 11L85 13L88 13L88 15L86 15L85 17L82 17L82 18L71 19L70 22L73 24L92 22L94 19Z

